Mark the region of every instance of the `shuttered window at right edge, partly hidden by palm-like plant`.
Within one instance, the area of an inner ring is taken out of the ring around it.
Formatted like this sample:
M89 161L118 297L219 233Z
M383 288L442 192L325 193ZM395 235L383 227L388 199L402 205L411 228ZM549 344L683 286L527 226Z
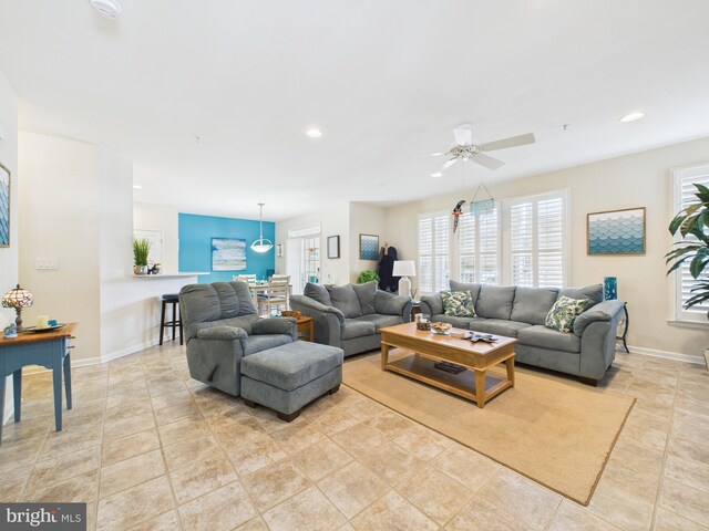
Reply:
M672 179L674 208L671 215L675 216L690 202L697 201L697 197L695 196L695 191L697 191L697 188L693 186L695 183L709 186L709 164L674 169ZM680 241L680 237L677 237L675 241ZM687 302L687 300L692 295L690 290L693 288L696 282L689 273L689 262L685 262L679 270L672 273L672 275L675 277L675 320L706 324L709 304L703 303L692 306L689 310L685 310L684 308L685 302Z

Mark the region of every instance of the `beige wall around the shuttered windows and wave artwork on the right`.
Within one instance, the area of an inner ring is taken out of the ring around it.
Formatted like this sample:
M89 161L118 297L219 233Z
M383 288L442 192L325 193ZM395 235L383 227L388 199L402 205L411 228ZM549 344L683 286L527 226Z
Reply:
M618 298L628 302L628 344L648 354L700 356L709 345L703 329L668 324L670 282L662 256L671 244L667 225L670 211L669 169L709 160L709 138L651 149L635 155L562 169L489 186L496 199L571 189L572 285L618 278ZM445 178L445 177L443 177ZM465 192L470 199L474 189ZM387 210L387 238L405 256L417 254L417 215L452 209L460 192L432 197ZM589 257L586 254L586 215L628 207L647 208L647 253L643 257ZM658 352L659 351L659 352Z

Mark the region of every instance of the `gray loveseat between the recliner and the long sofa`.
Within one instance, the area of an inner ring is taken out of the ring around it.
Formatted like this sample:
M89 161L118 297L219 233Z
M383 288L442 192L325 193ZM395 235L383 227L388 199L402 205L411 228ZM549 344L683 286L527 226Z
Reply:
M411 300L377 289L377 281L328 287L306 284L290 308L314 319L315 341L349 356L380 347L379 329L411 321Z

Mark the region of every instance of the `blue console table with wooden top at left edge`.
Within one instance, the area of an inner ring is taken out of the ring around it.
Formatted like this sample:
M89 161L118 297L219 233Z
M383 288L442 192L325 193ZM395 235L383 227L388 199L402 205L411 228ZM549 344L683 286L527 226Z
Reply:
M4 382L12 375L14 388L14 421L19 423L22 406L22 367L42 365L52 371L54 379L54 424L62 429L62 374L66 392L66 409L71 409L71 363L69 340L76 323L68 323L52 332L23 332L18 337L0 337L0 415L4 415ZM0 418L0 445L2 421Z

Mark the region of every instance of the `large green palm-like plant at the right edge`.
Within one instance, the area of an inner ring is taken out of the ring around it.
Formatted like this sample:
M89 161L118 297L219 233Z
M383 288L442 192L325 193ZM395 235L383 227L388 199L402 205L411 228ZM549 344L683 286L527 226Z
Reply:
M681 241L674 246L677 249L665 254L666 263L674 262L667 270L667 274L676 271L685 262L689 261L689 274L696 280L690 290L691 296L685 302L685 310L699 305L709 300L709 188L695 184L697 188L697 201L689 204L679 211L669 223L669 232L675 236L679 231ZM684 246L684 247L679 247ZM709 312L707 312L709 319ZM709 348L703 350L705 363L709 368Z

